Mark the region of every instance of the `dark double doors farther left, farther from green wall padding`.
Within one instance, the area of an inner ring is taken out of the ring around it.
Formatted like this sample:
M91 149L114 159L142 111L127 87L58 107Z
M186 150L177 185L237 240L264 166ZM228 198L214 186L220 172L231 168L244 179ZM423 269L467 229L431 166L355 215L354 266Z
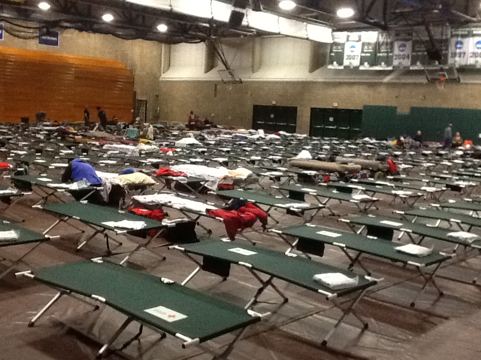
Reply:
M294 133L297 128L296 106L254 105L252 128L255 130Z

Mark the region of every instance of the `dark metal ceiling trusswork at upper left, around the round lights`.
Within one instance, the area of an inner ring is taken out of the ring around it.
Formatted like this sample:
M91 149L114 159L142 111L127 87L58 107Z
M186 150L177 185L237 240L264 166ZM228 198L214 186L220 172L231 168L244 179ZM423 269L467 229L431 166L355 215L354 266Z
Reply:
M106 33L124 39L145 39L163 43L201 42L212 36L236 37L256 34L250 29L231 29L226 23L212 19L178 14L115 0L49 0L48 11L38 8L37 2L0 0L0 20L7 21L6 32L18 34L23 24L15 20L36 22L47 28L74 28L79 31ZM112 22L102 20L102 14L114 16ZM159 32L159 23L168 25L168 32ZM29 32L29 31L27 31ZM31 31L30 31L31 32ZM21 36L19 36L21 37Z

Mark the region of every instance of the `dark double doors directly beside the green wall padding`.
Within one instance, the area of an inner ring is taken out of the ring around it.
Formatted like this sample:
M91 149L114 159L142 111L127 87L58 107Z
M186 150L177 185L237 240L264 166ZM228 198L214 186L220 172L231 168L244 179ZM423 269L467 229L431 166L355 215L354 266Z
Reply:
M310 136L354 139L361 132L362 110L311 107Z

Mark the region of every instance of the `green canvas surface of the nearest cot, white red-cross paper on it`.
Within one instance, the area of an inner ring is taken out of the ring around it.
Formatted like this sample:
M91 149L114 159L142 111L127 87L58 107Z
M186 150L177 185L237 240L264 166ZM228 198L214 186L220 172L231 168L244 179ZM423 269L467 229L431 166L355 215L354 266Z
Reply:
M88 297L100 296L136 320L201 342L260 320L242 307L109 262L82 261L37 268L32 273L43 283Z

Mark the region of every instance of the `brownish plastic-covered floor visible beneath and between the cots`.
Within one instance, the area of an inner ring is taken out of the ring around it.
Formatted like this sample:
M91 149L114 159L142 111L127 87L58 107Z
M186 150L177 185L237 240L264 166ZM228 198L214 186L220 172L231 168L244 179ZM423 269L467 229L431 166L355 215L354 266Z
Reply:
M459 194L446 192L441 199L460 198ZM56 219L38 209L32 209L37 198L26 196L10 209L10 214L21 216L27 221L26 227L42 231ZM379 209L373 213L391 215L392 209L407 209L406 205L388 205L380 201ZM334 203L332 208L341 214L354 213L355 207ZM175 211L170 211L175 217ZM281 218L281 224L300 223L300 219L280 211L274 214ZM348 227L337 221L328 211L318 215L313 221L333 228ZM219 222L209 220L214 235L223 235L225 230ZM259 225L255 226L259 228ZM60 225L52 234L61 235L37 248L26 260L32 266L48 266L89 259L105 254L105 243L101 236L89 243L80 252L75 247L81 234L66 225ZM199 230L199 235L205 235ZM273 234L249 233L261 245L284 251L286 245ZM122 238L123 251L135 246L133 238ZM243 241L243 240L239 240ZM428 244L429 241L426 241ZM161 245L159 240L154 245ZM449 248L439 244L437 248ZM15 258L28 246L0 249L0 255ZM161 261L160 255L167 259ZM365 256L364 263L370 267L375 277L383 277L382 286L370 292L358 305L358 312L364 315L370 327L362 332L356 319L348 318L331 337L328 346L320 342L340 315L324 298L298 286L277 281L286 292L289 303L276 307L279 298L273 291L266 291L256 310L274 311L265 322L252 326L237 342L230 358L238 360L288 360L315 358L330 359L389 359L389 360L430 360L481 358L481 296L476 286L469 284L472 277L481 270L481 259L464 260L457 256L454 264L439 271L438 284L445 295L437 299L437 292L429 286L416 308L409 303L421 284L417 273L409 268L397 266ZM114 257L115 258L115 257ZM345 264L345 255L332 246L326 248L322 261ZM0 265L0 269L5 265ZM134 254L127 266L180 281L193 270L194 264L176 250L157 247L142 249ZM19 265L18 270L27 267ZM455 278L456 280L452 280ZM95 279L92 279L95 281ZM189 283L200 289L233 303L244 305L258 287L256 280L245 269L234 266L227 281L206 272L200 272ZM55 290L28 278L15 278L9 274L0 281L0 359L64 360L93 358L99 349L99 342L105 341L120 325L125 317L115 310L101 307L92 311L88 305L66 297L56 303L36 324L29 328L27 323L55 294ZM271 302L271 303L268 303ZM114 344L119 346L138 329L131 324L127 331ZM226 344L231 335L219 337L216 346ZM194 348L182 349L181 343L172 337L158 341L158 334L145 329L141 342L132 343L121 353L113 353L110 358L142 358L177 360L207 359L211 356Z

